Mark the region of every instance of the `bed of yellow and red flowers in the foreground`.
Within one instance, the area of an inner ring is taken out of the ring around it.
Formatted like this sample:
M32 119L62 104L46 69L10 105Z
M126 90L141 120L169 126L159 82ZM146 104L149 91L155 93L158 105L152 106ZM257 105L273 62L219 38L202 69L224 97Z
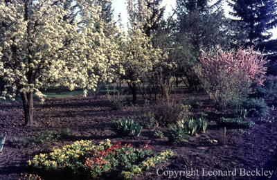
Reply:
M127 177L149 170L174 155L172 150L153 155L153 148L148 144L141 148L135 148L131 144L121 145L120 142L112 144L109 139L99 145L82 140L61 149L54 148L53 152L48 154L36 155L33 160L28 161L28 165L32 168L61 170L86 177L99 177L102 172L109 172L111 168L121 165L125 168L120 176L128 179ZM136 165L138 163L139 165Z

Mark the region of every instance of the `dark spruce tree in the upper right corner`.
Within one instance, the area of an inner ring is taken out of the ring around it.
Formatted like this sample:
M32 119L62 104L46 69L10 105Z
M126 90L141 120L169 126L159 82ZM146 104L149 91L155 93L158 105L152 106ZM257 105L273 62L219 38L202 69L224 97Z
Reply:
M270 42L271 45L265 42L272 37L269 30L277 26L277 1L233 0L229 6L233 9L230 15L235 17L233 23L240 26L239 29L247 31L247 40L242 45L256 45L257 48L267 48L270 51L273 42Z

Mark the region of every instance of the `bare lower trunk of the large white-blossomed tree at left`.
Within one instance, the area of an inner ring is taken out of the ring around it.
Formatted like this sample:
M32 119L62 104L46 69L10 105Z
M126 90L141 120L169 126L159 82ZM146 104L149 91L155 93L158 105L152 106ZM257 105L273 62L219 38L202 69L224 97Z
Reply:
M34 124L34 122L33 122L33 114L34 114L33 92L21 93L21 99L23 102L25 126L32 126Z

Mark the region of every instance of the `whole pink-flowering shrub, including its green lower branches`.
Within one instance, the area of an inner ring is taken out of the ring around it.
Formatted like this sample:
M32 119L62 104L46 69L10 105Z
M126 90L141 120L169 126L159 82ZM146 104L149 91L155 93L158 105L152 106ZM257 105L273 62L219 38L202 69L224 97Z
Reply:
M240 107L251 92L251 84L262 84L267 68L267 61L253 47L247 52L239 48L224 52L213 49L202 53L201 66L195 68L202 87L217 105Z

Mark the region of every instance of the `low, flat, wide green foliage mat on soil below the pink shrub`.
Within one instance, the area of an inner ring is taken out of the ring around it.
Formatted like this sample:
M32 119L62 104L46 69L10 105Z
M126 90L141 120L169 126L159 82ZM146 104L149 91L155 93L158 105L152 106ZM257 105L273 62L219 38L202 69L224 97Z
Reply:
M255 125L253 121L246 121L242 118L220 118L217 120L217 125L229 128L250 128Z

